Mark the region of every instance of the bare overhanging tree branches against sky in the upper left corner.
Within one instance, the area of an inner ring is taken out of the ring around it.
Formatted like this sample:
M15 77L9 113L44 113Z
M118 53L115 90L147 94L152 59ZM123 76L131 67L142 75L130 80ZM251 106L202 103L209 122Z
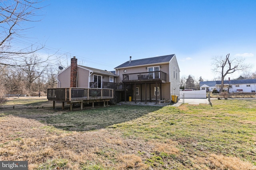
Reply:
M11 67L24 66L20 56L34 53L44 47L28 45L27 47L13 47L13 41L24 39L25 31L23 23L39 21L36 14L42 7L38 7L38 0L0 0L0 66ZM23 43L24 44L24 43Z

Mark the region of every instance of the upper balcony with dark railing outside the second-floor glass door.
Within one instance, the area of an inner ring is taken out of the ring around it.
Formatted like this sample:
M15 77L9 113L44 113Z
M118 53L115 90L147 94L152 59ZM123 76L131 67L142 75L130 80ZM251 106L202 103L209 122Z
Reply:
M123 74L123 82L153 82L161 81L166 83L166 73L162 71L140 72Z

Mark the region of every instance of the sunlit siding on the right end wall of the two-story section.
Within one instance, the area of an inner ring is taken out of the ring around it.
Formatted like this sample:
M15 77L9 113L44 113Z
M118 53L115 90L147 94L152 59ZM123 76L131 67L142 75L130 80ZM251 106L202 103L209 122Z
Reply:
M169 64L169 70L170 70L170 93L171 95L179 96L180 94L180 69L178 66L178 62L176 59L176 56L174 56ZM177 73L177 74L176 74Z

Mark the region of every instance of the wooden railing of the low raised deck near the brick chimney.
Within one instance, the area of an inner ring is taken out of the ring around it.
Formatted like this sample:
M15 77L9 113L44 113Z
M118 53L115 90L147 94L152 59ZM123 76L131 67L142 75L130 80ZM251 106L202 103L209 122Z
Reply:
M48 88L47 99L54 101L81 101L112 99L113 89L102 88Z

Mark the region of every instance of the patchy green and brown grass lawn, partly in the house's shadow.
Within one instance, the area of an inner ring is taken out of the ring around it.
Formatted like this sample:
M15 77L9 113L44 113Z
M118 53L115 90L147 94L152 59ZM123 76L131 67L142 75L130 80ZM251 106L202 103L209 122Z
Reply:
M28 160L29 170L256 169L256 100L51 106L15 99L0 109L0 160Z

